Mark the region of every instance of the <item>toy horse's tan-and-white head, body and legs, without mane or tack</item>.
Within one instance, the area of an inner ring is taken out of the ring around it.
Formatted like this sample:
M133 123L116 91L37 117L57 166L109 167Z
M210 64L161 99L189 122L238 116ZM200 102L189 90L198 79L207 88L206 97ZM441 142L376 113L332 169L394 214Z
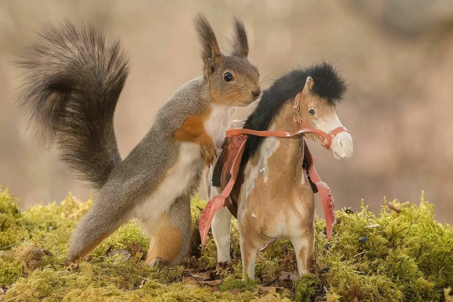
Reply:
M294 97L286 100L274 115L267 129L294 131L294 118L304 119L309 125L329 132L341 125L335 102L313 93L313 78L307 77L299 104L299 115L294 112ZM270 108L272 110L272 108ZM314 110L314 112L313 112ZM237 123L236 123L237 124ZM238 128L237 125L231 128ZM331 150L338 159L352 155L352 138L342 133L333 139ZM308 139L319 142L313 134ZM250 138L249 138L250 139ZM314 245L314 195L304 175L304 140L301 136L289 138L265 137L256 152L251 153L241 168L232 195L237 199L242 265L247 275L254 278L255 257L258 249L278 238L287 238L294 245L299 274L307 273ZM307 151L308 152L308 151ZM308 162L309 164L309 162ZM212 187L212 170L206 178L208 197L220 194ZM222 209L225 210L225 209ZM212 221L212 233L217 244L217 261L231 259L230 221L228 211L219 211Z

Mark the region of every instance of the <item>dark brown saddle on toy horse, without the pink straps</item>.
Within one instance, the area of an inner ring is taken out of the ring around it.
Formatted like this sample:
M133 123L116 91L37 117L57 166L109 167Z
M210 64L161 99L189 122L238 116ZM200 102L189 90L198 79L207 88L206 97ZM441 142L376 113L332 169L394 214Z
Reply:
M305 139L302 139L303 141L303 149L304 149L304 174L308 178L308 181L310 182L310 185L313 189L313 193L318 192L318 187L314 184L314 182L311 180L310 176L308 175L307 171L312 167L313 165L313 158L311 156L311 150L308 148L307 143L305 142ZM239 148L230 142L226 141L226 146L222 149L222 152L220 153L217 163L214 167L214 171L212 173L212 186L214 187L220 187L222 190L225 188L226 184L230 181L231 178L231 166L233 165L234 159L237 156L237 153L239 151ZM239 169L239 173L237 176L237 180L234 184L233 189L231 190L230 195L226 198L225 200L225 206L228 208L228 210L231 212L231 214L237 218L237 199L239 196L239 192L241 189L241 185L244 181L244 178L246 175L244 175L244 168L245 165L241 164L241 168Z

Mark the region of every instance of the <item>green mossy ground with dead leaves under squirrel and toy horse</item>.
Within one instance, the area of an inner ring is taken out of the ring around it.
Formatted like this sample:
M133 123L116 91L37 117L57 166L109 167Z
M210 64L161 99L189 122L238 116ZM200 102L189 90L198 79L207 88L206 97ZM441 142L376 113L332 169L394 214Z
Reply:
M258 254L255 281L243 278L234 224L233 264L216 266L211 237L183 264L149 268L148 240L129 223L88 261L64 266L68 238L91 203L69 195L21 212L0 190L0 301L452 301L453 230L434 221L423 195L419 205L384 201L379 215L363 205L338 211L330 243L317 219L313 273L296 279L292 246L280 240ZM204 203L192 203L195 221Z

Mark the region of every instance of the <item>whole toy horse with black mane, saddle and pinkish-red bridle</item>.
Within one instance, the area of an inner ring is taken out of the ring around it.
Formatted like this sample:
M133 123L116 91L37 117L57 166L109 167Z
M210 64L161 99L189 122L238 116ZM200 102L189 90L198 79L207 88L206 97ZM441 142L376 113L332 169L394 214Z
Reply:
M336 111L346 88L328 62L293 70L262 94L245 123L232 122L239 129L226 132L226 147L205 174L212 200L200 219L203 245L212 221L218 262L231 260L234 215L242 265L250 278L255 277L257 251L279 238L294 245L299 275L308 272L315 235L313 194L321 193L329 240L335 211L305 138L320 142L337 159L352 156L352 137Z

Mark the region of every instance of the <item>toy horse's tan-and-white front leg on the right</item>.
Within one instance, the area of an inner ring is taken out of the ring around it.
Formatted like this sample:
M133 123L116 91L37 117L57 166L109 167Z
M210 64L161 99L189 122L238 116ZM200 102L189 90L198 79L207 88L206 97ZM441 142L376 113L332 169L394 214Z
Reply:
M310 261L313 255L314 245L314 225L305 227L307 232L304 235L291 238L291 243L294 246L297 259L297 270L299 275L309 273Z

